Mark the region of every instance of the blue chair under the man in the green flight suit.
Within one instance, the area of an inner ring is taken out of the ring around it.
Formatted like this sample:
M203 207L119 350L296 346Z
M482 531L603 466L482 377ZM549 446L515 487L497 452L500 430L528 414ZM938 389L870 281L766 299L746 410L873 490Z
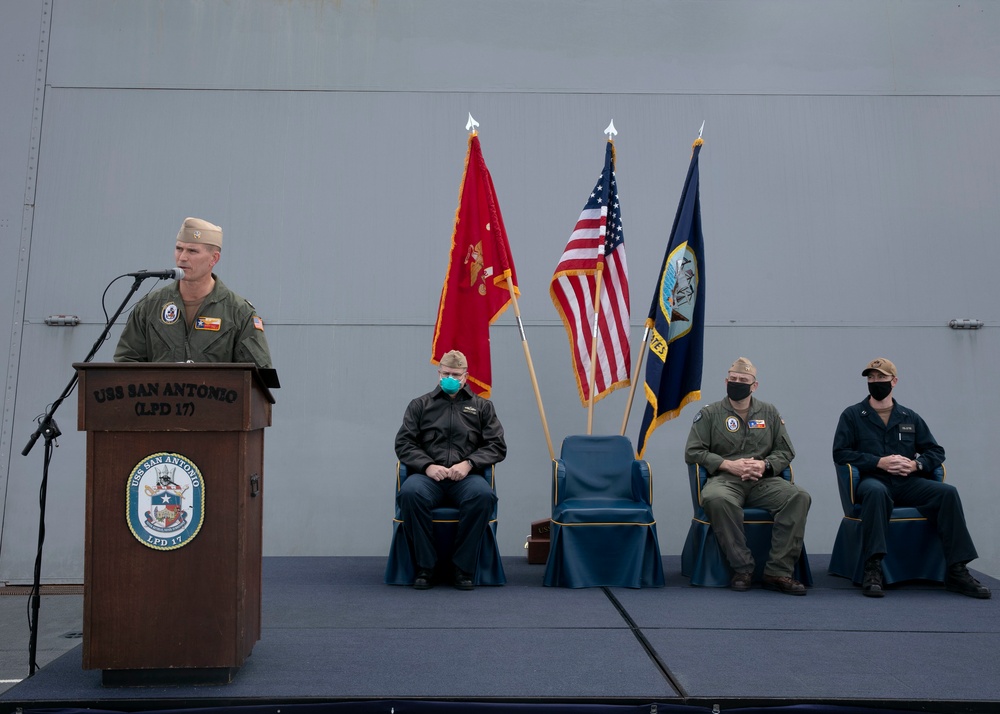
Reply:
M688 464L688 477L691 483L691 503L694 506L694 516L688 537L681 551L681 575L691 578L692 585L710 588L728 587L733 577L729 561L722 553L719 542L712 530L712 522L708 519L701 503L701 490L708 480L708 472L701 464ZM794 483L792 469L786 468L781 477ZM767 556L771 550L771 529L774 519L763 508L743 509L743 532L747 537L747 546L753 553L755 582L764 574ZM809 568L809 558L806 547L802 546L799 562L795 564L793 577L805 585L812 585L812 570Z

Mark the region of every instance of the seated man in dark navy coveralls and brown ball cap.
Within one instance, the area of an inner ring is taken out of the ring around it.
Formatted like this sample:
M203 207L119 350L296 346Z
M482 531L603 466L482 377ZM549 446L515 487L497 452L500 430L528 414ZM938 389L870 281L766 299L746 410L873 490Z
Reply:
M899 377L884 357L862 370L869 396L840 415L833 437L833 460L853 464L861 476L861 539L865 569L861 594L882 597L885 531L893 506L910 506L937 524L948 572L945 587L975 598L990 590L969 573L966 563L979 557L965 524L958 490L928 478L944 462L944 449L920 415L892 398Z

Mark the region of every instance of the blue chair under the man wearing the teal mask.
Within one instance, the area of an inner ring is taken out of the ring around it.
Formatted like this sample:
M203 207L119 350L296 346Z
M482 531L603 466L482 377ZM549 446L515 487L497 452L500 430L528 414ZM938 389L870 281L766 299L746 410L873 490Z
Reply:
M406 466L396 464L396 494L407 477ZM489 466L484 474L490 486L496 491L496 467ZM472 477L472 474L469 474ZM458 529L458 509L450 507L435 508L434 544L438 552L437 578L447 581L452 575L451 554L455 550L455 533ZM413 562L413 548L406 532L403 530L403 518L396 505L396 516L392 519L392 543L389 545L389 559L385 564L385 582L389 585L413 585L416 578L416 566ZM497 543L497 510L493 508L490 516L490 527L483 535L483 543L479 549L479 562L472 582L476 585L503 585L507 576L503 572L503 562L500 560L500 546Z

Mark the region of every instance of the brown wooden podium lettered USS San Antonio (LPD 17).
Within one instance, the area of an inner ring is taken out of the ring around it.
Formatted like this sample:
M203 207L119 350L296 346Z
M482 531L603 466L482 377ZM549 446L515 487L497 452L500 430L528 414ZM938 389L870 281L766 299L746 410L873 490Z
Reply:
M82 363L83 667L228 682L260 639L264 428L250 364Z

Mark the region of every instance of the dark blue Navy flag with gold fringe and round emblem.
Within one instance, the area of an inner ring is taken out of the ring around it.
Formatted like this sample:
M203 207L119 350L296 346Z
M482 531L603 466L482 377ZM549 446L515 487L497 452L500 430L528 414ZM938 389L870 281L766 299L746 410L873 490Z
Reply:
M691 165L670 230L660 277L649 307L646 355L646 411L639 431L642 458L650 435L681 413L688 402L701 399L701 368L705 337L705 249L701 233L698 154L694 142Z

